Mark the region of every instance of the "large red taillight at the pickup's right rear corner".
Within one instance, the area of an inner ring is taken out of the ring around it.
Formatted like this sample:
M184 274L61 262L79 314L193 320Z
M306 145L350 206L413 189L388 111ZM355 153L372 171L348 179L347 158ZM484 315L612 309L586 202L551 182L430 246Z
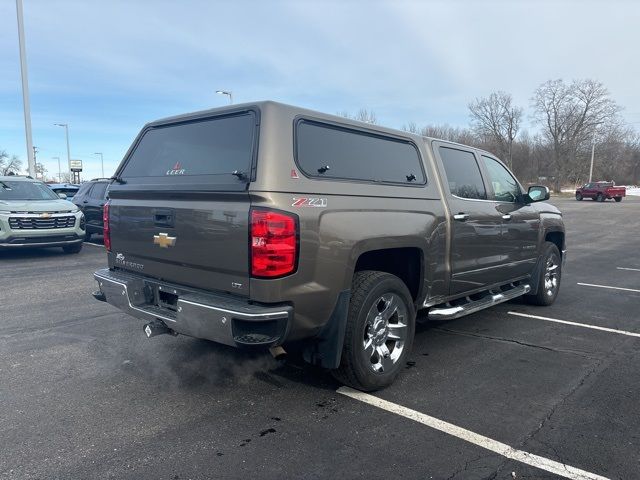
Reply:
M297 217L271 210L251 211L251 274L281 277L296 268Z

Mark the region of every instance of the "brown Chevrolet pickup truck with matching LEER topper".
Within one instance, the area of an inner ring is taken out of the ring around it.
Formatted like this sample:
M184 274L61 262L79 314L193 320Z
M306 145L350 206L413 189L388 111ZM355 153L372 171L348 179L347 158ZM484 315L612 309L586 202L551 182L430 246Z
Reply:
M273 102L146 125L109 196L96 299L362 390L405 367L417 310L550 305L566 257L549 189L493 154Z

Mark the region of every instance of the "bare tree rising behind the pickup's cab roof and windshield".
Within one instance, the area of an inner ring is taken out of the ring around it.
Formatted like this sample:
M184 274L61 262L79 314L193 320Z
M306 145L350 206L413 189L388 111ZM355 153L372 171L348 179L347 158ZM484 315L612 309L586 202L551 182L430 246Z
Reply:
M505 92L494 92L488 97L476 98L468 107L474 133L492 141L498 155L511 168L513 141L520 128L522 108L513 105L511 95Z

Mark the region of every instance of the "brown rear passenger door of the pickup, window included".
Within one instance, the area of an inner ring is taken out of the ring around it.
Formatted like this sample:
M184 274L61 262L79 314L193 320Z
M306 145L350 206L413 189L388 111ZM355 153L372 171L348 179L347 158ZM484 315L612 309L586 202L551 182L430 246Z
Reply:
M489 200L479 159L472 149L453 144L434 142L434 151L452 215L450 294L504 281L503 214Z

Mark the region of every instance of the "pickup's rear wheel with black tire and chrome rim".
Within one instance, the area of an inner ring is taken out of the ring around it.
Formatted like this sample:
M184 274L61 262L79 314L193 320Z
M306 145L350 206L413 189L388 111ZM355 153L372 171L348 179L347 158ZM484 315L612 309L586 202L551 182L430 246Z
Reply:
M394 306L395 310L391 311ZM390 317L385 320L386 315ZM375 325L371 323L372 318ZM356 272L342 359L340 366L332 371L333 376L365 392L391 385L411 351L415 318L411 293L402 280L385 272ZM385 355L378 354L380 349Z

